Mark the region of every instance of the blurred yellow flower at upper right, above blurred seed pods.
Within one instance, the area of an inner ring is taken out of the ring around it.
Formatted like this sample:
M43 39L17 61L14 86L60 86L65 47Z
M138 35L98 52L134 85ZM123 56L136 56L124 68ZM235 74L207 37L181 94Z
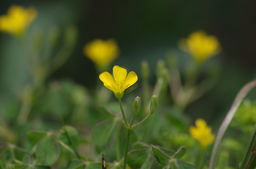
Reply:
M199 62L203 62L221 51L218 39L201 30L191 33L188 39L181 39L179 48L188 52Z

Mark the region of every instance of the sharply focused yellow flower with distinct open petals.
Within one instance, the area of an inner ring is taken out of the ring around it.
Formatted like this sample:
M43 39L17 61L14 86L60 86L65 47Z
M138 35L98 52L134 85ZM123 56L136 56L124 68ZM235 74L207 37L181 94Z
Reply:
M119 66L113 67L113 75L115 80L110 73L103 72L100 74L100 80L103 81L104 86L112 90L116 98L119 99L124 95L124 90L132 86L138 80L137 75L133 71L127 75L126 69Z

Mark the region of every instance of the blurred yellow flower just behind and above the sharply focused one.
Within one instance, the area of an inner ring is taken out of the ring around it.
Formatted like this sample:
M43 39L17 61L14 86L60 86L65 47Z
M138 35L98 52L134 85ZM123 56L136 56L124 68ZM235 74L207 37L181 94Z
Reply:
M118 45L113 39L95 39L87 43L84 48L84 55L89 57L98 67L104 68L112 63L119 55Z

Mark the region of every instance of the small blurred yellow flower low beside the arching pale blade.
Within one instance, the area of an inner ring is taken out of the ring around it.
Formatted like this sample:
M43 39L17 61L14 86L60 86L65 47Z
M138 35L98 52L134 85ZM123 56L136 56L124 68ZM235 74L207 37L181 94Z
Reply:
M196 126L189 127L189 133L194 137L203 148L206 148L215 140L215 135L211 133L211 128L207 126L204 119L198 118Z

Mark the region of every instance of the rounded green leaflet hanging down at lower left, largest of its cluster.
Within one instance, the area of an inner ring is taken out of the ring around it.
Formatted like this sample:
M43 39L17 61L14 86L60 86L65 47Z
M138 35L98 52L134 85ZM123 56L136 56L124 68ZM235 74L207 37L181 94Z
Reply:
M37 144L36 157L38 163L52 165L58 160L59 155L59 144L52 136L45 136Z

